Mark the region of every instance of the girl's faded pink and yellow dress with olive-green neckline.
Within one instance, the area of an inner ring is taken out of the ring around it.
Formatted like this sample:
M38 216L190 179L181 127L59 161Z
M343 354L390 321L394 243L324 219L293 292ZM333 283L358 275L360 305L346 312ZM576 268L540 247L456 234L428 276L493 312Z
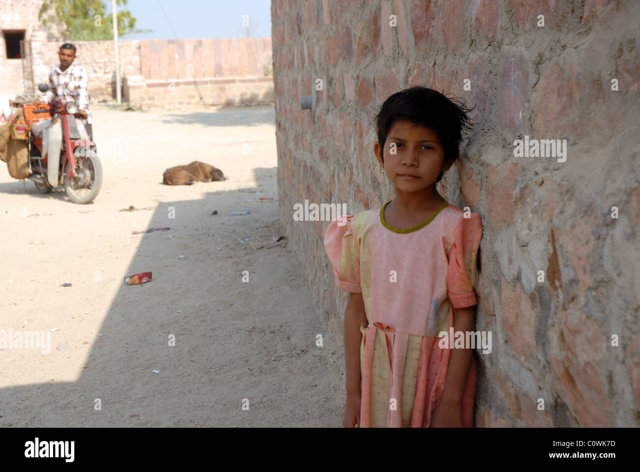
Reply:
M453 308L477 304L482 224L478 214L465 218L445 201L428 221L400 230L385 222L388 203L333 220L324 249L337 288L362 292L369 322L360 327L359 427L429 427L451 353L440 348L439 333L453 326ZM476 377L474 353L462 400L465 427L473 426Z

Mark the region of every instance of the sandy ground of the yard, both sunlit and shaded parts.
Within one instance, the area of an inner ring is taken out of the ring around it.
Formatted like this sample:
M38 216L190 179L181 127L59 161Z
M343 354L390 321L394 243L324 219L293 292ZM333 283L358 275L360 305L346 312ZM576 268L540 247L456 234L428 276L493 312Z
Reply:
M340 343L291 248L251 247L284 234L273 107L93 113L93 203L23 191L0 163L0 330L51 336L0 350L0 427L341 426ZM161 184L194 160L228 180Z

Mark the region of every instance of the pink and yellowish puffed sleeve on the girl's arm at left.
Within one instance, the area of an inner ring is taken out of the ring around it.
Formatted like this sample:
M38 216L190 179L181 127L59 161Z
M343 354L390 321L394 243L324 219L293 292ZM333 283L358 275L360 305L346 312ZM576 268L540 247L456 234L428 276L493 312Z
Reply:
M324 250L335 275L335 286L343 292L362 292L360 288L360 247L351 226L352 215L334 219L324 233Z

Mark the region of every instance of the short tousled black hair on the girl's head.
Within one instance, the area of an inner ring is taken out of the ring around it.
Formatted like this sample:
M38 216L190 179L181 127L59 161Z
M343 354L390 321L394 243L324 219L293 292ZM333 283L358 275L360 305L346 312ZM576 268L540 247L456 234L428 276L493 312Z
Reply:
M394 122L409 120L414 125L435 130L444 147L445 162L456 161L460 157L462 130L471 129L468 113L472 110L465 107L459 98L445 97L431 88L418 86L394 93L385 100L376 116L378 143L383 155L387 135Z

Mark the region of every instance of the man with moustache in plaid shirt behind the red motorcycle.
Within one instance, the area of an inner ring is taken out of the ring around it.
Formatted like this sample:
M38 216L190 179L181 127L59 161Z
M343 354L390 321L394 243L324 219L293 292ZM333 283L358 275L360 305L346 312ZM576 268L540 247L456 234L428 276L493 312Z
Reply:
M74 65L76 46L73 44L61 45L58 56L60 65L53 67L49 72L49 91L40 97L40 101L48 103L53 98L60 98L65 102L76 102L79 113L84 118L84 128L89 139L93 139L93 116L89 109L89 75L84 67Z

